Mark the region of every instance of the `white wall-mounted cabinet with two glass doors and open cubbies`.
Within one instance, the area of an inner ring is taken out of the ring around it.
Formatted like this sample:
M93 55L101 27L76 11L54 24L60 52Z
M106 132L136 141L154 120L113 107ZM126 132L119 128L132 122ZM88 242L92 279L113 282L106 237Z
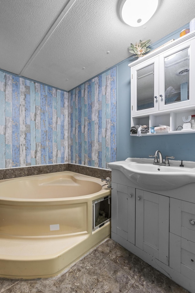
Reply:
M192 32L129 64L131 126L167 125L175 133L183 116L195 114L194 50Z

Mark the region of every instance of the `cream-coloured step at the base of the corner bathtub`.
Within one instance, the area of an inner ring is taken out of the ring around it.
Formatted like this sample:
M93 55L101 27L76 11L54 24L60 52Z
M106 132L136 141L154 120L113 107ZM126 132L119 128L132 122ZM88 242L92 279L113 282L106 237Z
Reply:
M36 279L56 276L110 237L110 222L91 233L66 236L0 235L0 277Z

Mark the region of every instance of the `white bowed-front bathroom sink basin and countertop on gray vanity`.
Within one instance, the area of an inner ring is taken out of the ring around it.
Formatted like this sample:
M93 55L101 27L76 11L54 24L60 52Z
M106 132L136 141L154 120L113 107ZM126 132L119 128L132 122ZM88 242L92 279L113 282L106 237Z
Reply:
M154 159L127 158L109 163L120 170L134 184L149 190L170 190L195 182L195 162L170 160L170 166L153 165Z

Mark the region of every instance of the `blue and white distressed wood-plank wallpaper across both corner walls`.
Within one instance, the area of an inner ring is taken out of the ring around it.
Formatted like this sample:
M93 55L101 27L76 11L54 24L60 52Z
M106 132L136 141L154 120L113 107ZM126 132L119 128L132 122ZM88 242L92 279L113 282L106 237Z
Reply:
M116 67L69 93L0 70L0 168L116 161Z

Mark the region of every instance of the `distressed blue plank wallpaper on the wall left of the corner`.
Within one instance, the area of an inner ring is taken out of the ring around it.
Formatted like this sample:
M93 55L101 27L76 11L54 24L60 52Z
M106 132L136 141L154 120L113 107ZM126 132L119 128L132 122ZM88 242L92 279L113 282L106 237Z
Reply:
M67 163L67 92L0 70L0 105L0 168Z

